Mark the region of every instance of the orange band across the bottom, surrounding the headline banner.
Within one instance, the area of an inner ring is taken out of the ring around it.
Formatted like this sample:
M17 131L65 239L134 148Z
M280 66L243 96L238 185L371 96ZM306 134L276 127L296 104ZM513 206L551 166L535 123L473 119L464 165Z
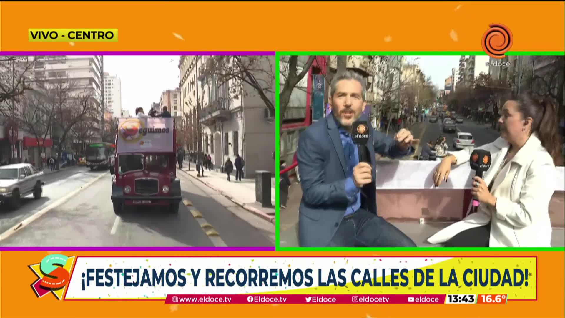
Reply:
M509 301L505 306L444 304L164 304L159 301L97 300L65 301L46 295L37 298L30 285L37 280L28 265L36 264L49 252L0 252L0 317L37 317L40 313L58 313L75 317L563 317L563 251L496 252L74 252L54 251L67 256L537 256L537 300ZM299 315L297 315L299 313Z

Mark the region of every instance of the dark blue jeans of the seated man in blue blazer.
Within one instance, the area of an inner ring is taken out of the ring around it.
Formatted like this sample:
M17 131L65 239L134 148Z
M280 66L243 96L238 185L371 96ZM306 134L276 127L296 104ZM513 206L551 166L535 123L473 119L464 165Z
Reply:
M341 221L330 247L416 247L401 230L365 209Z

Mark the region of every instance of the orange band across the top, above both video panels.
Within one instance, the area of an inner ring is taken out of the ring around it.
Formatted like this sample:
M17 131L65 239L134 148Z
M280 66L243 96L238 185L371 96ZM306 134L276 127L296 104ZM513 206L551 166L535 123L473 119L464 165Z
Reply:
M563 51L564 2L0 2L2 51ZM345 20L344 20L345 19ZM345 23L344 23L345 21ZM28 29L118 29L117 42L29 42Z

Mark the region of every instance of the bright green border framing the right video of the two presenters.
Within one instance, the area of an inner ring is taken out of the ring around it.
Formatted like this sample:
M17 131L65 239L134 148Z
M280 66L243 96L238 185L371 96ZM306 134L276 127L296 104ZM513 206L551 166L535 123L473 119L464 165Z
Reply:
M279 182L280 166L277 158L280 158L280 114L279 114L279 93L280 93L280 66L281 55L486 55L484 51L277 51L275 53L275 250L281 252L427 252L427 251L532 251L532 252L565 252L565 247L281 247L280 246L280 204L279 204ZM507 52L506 55L565 55L565 51L515 51Z

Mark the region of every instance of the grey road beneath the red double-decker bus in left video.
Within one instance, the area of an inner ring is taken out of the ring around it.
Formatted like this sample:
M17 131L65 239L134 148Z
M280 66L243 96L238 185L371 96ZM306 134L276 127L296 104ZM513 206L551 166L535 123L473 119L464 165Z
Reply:
M177 170L177 176L183 197L179 214L137 209L116 217L110 201L111 175L107 171L73 167L50 174L45 178L42 199L28 197L17 211L0 209L0 246L274 246L273 224L185 172ZM6 233L89 182L92 184L58 207L15 233Z

